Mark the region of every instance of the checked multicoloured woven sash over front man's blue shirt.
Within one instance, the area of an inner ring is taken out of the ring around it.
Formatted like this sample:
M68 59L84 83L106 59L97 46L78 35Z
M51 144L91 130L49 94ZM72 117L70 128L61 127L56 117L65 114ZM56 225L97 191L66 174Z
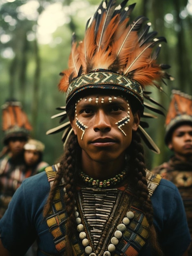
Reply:
M54 181L56 171L58 166L49 166L45 169L48 181L52 183ZM150 173L150 171L146 171L146 177L148 180L148 189L150 190L150 196L157 188L161 177L160 175L154 175ZM124 188L124 187L123 187ZM134 218L130 221L129 225L124 231L122 238L119 240L118 245L116 246L114 256L138 256L141 248L146 244L148 240L149 232L148 232L148 221L146 216L142 211L139 210L139 204L136 200L131 200L130 202L130 194L131 191L128 188L122 189L121 202L119 202L118 211L116 216L113 218L113 222L118 219L118 224L122 222L122 219L126 215L126 211L132 211L134 213ZM119 193L121 193L119 192ZM125 193L124 193L125 192ZM52 209L49 211L46 222L49 226L49 230L54 238L55 248L60 255L63 255L65 252L66 246L66 221L67 214L65 212L65 204L61 198L64 198L64 184L58 186L57 191L55 193L54 202L52 204ZM128 207L124 207L127 205ZM79 210L78 210L79 211ZM81 213L82 214L82 213ZM83 220L82 220L83 221ZM117 230L117 225L114 225L113 234ZM112 234L112 235L113 235ZM110 235L111 236L111 235ZM82 242L79 240L79 234L76 234L71 241L73 245L73 255L74 256L84 256L85 250ZM108 245L106 245L107 247Z

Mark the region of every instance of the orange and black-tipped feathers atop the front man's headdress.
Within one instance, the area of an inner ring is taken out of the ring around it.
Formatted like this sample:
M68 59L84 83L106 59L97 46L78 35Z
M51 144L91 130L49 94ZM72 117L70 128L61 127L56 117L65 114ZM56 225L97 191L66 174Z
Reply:
M150 25L143 25L147 20L143 16L128 24L135 5L124 8L125 4L120 4L115 9L115 2L102 2L86 28L84 40L78 46L77 43L72 43L68 69L63 72L59 90L66 92L71 79L77 77L80 67L81 74L97 69L119 72L129 78L138 79L143 87L152 85L153 81L161 78L171 79L163 67L156 64L158 51L152 58L156 43L164 38L152 38L156 33L148 33Z

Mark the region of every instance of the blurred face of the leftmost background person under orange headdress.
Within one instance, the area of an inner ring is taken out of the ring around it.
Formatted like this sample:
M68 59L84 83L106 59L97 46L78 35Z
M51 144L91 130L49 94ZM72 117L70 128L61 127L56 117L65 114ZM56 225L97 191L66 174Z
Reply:
M9 139L8 146L13 157L22 153L25 144L26 138L24 137L12 137Z

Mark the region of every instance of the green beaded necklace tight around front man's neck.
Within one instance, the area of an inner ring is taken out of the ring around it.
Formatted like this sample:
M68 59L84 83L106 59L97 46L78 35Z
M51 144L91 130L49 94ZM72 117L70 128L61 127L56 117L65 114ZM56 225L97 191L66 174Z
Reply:
M118 184L119 182L121 182L121 180L124 179L124 177L126 177L126 175L127 175L127 170L121 171L121 173L115 175L115 177L113 178L100 181L100 180L94 180L93 178L89 177L87 174L85 174L82 171L79 173L79 176L82 178L82 180L85 182L86 185L94 188L100 188L100 189Z

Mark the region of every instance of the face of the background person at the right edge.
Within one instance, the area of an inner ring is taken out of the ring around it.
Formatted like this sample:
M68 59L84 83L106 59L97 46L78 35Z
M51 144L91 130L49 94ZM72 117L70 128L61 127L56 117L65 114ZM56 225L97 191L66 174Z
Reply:
M172 133L172 141L168 147L178 157L192 158L192 126L185 124L176 128Z

